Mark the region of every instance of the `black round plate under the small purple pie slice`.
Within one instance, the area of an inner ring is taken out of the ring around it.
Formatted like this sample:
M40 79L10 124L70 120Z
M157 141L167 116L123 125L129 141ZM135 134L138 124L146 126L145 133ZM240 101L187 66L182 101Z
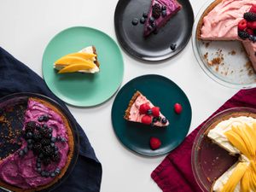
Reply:
M138 20L148 12L151 0L119 0L114 13L114 26L119 44L130 55L143 61L162 61L180 52L189 42L194 13L189 0L178 0L183 8L174 15L157 34L143 37L143 24L133 26L131 20ZM173 51L171 44L177 44Z

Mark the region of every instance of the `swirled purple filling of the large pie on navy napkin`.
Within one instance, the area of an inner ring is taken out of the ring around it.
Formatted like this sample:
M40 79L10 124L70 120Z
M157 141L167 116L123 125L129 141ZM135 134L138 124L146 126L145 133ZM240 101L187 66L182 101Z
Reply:
M48 114L49 121L40 123L38 117ZM41 102L29 99L26 109L25 123L35 121L38 124L46 124L53 129L53 137L63 137L67 141L67 131L63 119L54 110L44 106ZM25 129L25 127L23 128ZM26 148L27 143L22 139L22 148ZM48 166L42 165L42 170L54 172L56 168L62 169L67 163L67 153L69 150L67 142L56 142L55 146L59 148L60 161L51 162ZM19 187L21 189L32 189L45 185L53 181L54 177L42 177L36 171L37 157L29 150L26 155L20 157L18 151L9 155L0 165L0 178L6 183Z

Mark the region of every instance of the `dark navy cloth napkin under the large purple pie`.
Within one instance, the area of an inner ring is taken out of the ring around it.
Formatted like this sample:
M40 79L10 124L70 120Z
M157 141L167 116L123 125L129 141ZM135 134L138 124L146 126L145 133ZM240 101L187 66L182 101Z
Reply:
M65 109L64 102L61 102L47 87L44 80L30 68L9 55L0 47L0 97L17 92L32 92L49 96L61 104ZM69 110L67 109L67 112ZM72 119L79 132L79 159L73 172L61 183L54 192L97 192L100 191L102 182L102 165L96 159L96 154L90 146L90 142L82 127ZM0 190L1 191L1 190Z

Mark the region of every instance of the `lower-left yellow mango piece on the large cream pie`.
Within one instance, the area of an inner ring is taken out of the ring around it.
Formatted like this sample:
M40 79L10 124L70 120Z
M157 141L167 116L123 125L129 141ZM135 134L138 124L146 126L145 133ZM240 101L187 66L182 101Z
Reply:
M238 163L227 183L225 183L223 189L221 189L221 192L233 192L236 189L236 185L247 171L247 167L247 163Z

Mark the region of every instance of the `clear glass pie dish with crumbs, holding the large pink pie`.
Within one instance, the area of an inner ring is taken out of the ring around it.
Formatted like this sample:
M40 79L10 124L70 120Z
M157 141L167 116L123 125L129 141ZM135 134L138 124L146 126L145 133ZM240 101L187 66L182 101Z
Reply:
M253 88L256 86L256 73L241 42L202 41L196 37L201 15L212 2L213 0L207 1L195 19L192 43L196 59L203 71L219 84L238 89ZM220 63L212 65L214 59L220 59Z

